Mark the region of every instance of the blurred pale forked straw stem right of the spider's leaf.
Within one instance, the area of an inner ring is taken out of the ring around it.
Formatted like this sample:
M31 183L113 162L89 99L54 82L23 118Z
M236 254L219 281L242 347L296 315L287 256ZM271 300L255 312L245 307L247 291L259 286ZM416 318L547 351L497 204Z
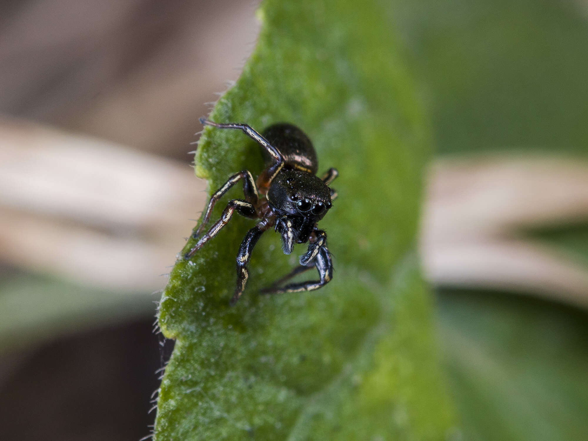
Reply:
M522 231L588 219L588 163L482 156L431 168L421 250L443 286L527 292L588 306L586 267Z

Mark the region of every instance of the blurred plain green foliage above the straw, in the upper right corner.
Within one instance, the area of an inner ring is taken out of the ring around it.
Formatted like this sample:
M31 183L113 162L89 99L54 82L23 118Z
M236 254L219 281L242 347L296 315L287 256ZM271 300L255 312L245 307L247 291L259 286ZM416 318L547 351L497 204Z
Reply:
M588 152L588 8L580 1L398 0L439 152Z

